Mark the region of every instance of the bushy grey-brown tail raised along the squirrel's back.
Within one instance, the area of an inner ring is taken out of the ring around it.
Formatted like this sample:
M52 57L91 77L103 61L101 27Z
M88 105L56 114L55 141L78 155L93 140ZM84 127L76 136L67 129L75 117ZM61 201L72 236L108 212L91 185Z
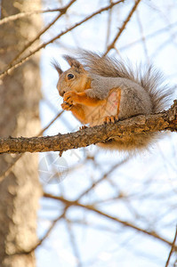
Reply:
M87 51L79 53L79 59L83 61L84 68L93 74L128 78L141 85L149 93L153 113L163 111L172 99L173 89L165 85L163 74L152 65L133 69L130 63Z

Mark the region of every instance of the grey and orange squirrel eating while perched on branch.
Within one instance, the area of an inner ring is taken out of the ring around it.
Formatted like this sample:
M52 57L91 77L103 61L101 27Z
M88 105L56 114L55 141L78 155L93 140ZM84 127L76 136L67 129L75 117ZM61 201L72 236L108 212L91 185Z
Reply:
M83 124L101 125L137 115L154 114L165 109L172 90L164 84L161 72L153 66L133 71L124 61L83 51L80 60L64 56L70 69L59 74L57 89L63 97L61 108L70 110ZM81 127L82 128L82 127ZM84 128L84 126L83 126ZM99 146L125 151L148 148L157 134L130 134L114 137Z

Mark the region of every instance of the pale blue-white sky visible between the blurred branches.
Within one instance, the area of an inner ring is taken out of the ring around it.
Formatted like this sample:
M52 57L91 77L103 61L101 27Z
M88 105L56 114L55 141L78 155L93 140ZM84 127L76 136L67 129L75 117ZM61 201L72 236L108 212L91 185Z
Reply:
M63 3L66 2L63 1ZM56 3L58 2L53 1L52 4L47 2L47 7L56 7ZM76 1L76 4L69 9L69 17L59 20L43 37L43 40L59 34L69 25L82 20L84 15L108 3L109 1L100 0ZM113 10L110 41L116 35L117 28L122 25L132 6L133 1L126 1L120 9ZM177 4L173 0L144 0L117 42L120 57L129 59L134 64L141 61L147 63L148 59L153 61L157 68L163 70L166 81L172 86L177 84L177 23L170 28L167 26L177 21L176 14ZM44 15L44 17L47 17L45 20L47 23L53 17L53 13ZM40 113L43 126L47 125L52 117L61 110L62 99L56 90L58 76L52 69L52 58L60 62L61 68L67 69L68 65L61 58L62 54L68 52L75 54L79 47L103 52L106 45L107 23L108 12L104 12L76 28L72 33L63 36L55 44L48 45L42 52L41 74L44 100L41 101ZM161 30L162 28L165 29ZM156 31L160 32L156 36L147 38L145 43L142 40L133 44L143 36L149 36ZM132 45L127 46L128 44ZM146 51L148 58L145 54ZM115 52L110 54L116 56ZM176 95L176 91L174 91L174 95ZM45 134L68 133L77 130L79 125L76 118L65 111ZM110 175L111 182L102 182L93 192L82 199L83 203L92 204L99 199L113 198L116 193L123 191L129 196L127 200L115 203L110 201L99 207L144 228L150 229L152 226L153 229L156 225L156 230L160 234L167 236L168 239L173 239L177 222L176 144L175 134L167 134L165 139L155 143L149 151L133 157L127 164L113 172ZM94 155L97 148L91 146L86 151L89 155ZM64 181L45 185L44 189L53 194L63 193L66 198L75 199L92 183L91 177L93 181L96 181L111 166L125 158L125 155L121 155L117 151L99 150L96 156L98 167L93 166L92 163L84 165L84 153L83 149L64 152L62 157L66 159L68 167L79 166L79 168L74 173L69 173ZM43 158L44 154L40 157ZM170 195L167 198L168 192ZM160 197L163 194L165 198ZM172 208L171 213L168 213L169 208ZM38 222L40 237L50 226L50 219L54 219L60 214L60 209L61 205L56 201L48 199L41 201ZM137 221L135 220L136 213ZM162 267L165 265L169 247L155 239L147 238L132 230L125 231L121 225L102 219L91 212L84 213L80 208L71 208L68 211L68 217L74 221L84 220L91 225L91 227L79 225L79 223L71 225L83 267ZM107 228L108 231L101 230L101 227ZM36 250L36 259L37 267L77 266L76 255L70 246L66 223L60 221L55 226L49 239L46 239L43 246Z

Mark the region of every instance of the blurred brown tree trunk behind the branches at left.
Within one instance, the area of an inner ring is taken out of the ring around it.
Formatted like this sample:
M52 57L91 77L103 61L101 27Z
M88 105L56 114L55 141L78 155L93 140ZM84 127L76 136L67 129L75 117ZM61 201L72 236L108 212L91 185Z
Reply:
M1 17L40 10L40 0L2 0ZM0 27L0 70L41 28L40 15L8 22ZM0 84L0 136L34 136L40 129L39 54L4 77ZM0 174L15 159L0 156ZM36 211L40 197L37 155L22 155L10 174L0 180L0 266L34 267L34 253L18 255L36 243Z

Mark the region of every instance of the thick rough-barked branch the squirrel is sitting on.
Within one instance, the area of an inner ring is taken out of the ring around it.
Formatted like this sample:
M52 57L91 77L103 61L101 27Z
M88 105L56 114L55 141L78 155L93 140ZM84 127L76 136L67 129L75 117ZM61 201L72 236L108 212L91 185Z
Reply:
M153 115L140 115L117 123L97 125L70 134L54 136L0 139L0 153L24 153L45 151L66 151L105 142L112 137L123 138L130 134L177 131L177 101L171 109Z

